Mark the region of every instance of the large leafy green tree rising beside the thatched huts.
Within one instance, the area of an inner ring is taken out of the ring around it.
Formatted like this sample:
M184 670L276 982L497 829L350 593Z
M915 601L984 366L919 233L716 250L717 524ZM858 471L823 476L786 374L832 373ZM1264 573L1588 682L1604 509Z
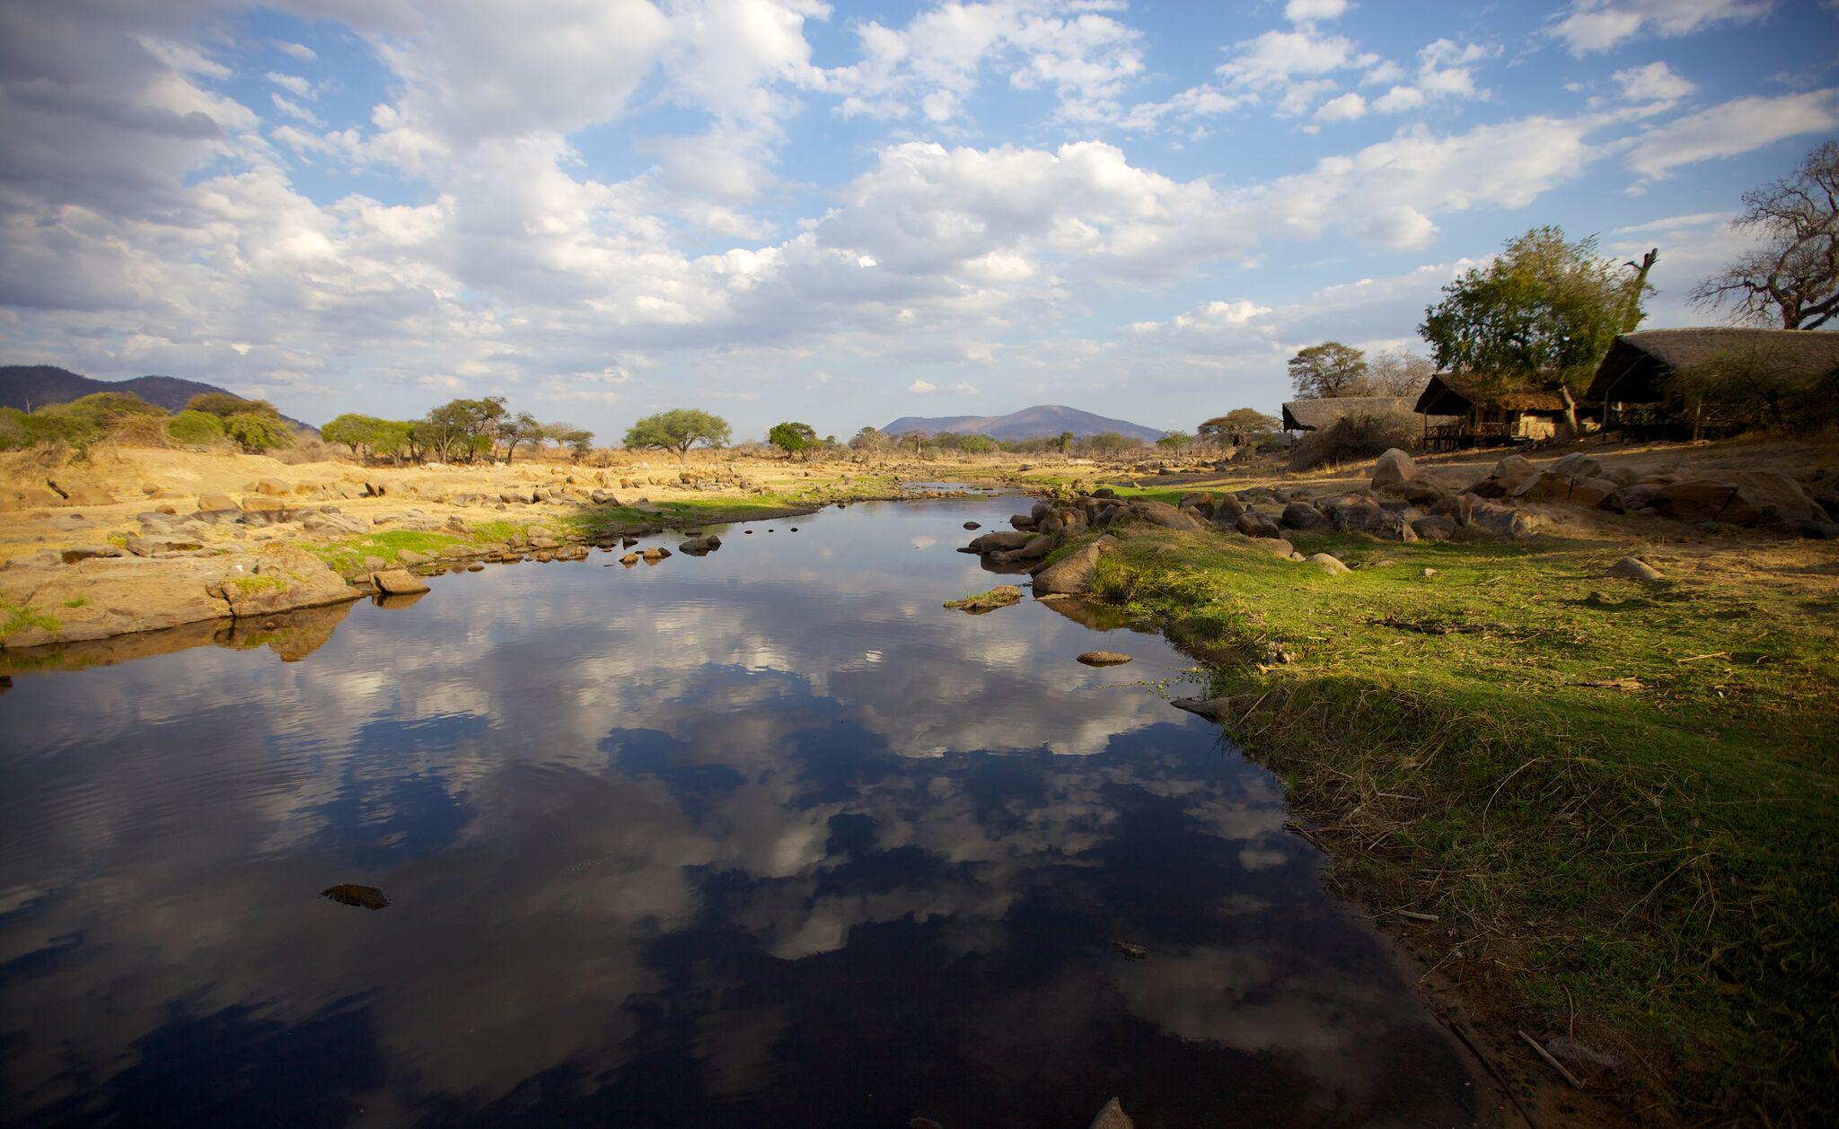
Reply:
M1640 324L1642 274L1624 276L1596 252L1596 237L1576 243L1561 228L1534 228L1486 270L1471 268L1423 311L1418 335L1447 371L1504 388L1552 379L1569 393L1589 384L1618 333Z

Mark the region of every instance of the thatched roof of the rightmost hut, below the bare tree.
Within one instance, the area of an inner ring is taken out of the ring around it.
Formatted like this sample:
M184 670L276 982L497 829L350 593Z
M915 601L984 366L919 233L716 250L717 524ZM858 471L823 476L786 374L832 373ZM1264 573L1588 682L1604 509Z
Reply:
M1644 329L1624 333L1596 366L1587 399L1650 405L1679 371L1721 360L1821 377L1839 370L1839 333L1821 329Z

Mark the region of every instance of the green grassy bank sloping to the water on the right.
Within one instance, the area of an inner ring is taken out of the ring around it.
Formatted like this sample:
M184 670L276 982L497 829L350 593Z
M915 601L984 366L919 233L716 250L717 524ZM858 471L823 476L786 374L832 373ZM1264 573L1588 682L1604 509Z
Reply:
M1337 884L1491 1030L1574 1032L1618 1066L1572 1068L1637 1112L1830 1116L1832 577L1644 587L1602 577L1622 548L1554 539L1296 548L1355 568L1131 530L1098 594L1212 662ZM1273 647L1291 662L1238 658Z

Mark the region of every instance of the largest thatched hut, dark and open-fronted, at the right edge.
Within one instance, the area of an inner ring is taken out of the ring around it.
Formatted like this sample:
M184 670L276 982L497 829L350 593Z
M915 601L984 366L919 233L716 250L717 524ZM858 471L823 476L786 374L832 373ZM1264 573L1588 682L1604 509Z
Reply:
M1797 377L1839 370L1839 333L1811 329L1644 329L1609 346L1585 399L1602 405L1605 430L1640 438L1718 434L1742 425L1688 403L1673 377L1736 364Z

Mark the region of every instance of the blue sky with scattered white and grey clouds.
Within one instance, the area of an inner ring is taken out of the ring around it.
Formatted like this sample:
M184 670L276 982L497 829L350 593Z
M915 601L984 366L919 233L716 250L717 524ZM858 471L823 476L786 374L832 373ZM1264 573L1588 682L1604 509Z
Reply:
M1539 224L1719 324L1835 134L1833 0L0 0L0 364L1192 430Z

